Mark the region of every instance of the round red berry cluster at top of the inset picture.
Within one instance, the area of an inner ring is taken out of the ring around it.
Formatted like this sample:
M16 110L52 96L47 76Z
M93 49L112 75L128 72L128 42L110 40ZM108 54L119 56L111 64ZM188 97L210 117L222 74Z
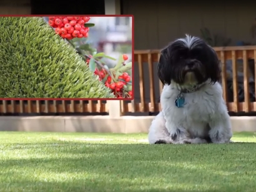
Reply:
M88 37L89 27L84 24L90 17L49 17L49 25L64 39Z

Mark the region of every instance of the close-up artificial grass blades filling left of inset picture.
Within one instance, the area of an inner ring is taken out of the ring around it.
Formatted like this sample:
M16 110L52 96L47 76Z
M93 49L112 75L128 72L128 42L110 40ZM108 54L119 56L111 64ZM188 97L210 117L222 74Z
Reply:
M41 17L0 17L1 98L114 98Z

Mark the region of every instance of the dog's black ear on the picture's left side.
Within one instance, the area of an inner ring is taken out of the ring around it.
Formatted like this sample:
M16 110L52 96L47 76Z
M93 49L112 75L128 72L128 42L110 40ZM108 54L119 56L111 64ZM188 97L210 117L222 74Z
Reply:
M168 47L160 52L159 62L157 64L157 75L162 84L170 85L170 57Z

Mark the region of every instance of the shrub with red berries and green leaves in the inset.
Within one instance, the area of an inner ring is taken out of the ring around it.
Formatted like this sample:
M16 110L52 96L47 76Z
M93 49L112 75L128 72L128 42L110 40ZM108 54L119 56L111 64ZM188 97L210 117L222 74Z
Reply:
M132 62L127 62L129 57L126 54L119 55L117 64L109 69L109 66L106 65L107 60L104 59L116 59L103 52L97 53L97 49L87 42L89 27L94 26L94 24L88 23L91 17L54 16L44 19L58 36L66 39L77 50L89 69L95 75L99 75L99 80L109 87L117 98L132 98L132 78L130 77ZM132 44L130 44L130 48L132 48ZM129 52L129 49L126 51Z

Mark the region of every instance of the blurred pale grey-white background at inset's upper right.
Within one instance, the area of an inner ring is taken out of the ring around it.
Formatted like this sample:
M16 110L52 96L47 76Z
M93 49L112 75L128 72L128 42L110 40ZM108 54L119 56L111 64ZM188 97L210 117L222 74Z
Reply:
M91 17L95 26L90 28L87 43L114 58L127 54L132 61L132 17ZM116 61L108 60L108 65Z

